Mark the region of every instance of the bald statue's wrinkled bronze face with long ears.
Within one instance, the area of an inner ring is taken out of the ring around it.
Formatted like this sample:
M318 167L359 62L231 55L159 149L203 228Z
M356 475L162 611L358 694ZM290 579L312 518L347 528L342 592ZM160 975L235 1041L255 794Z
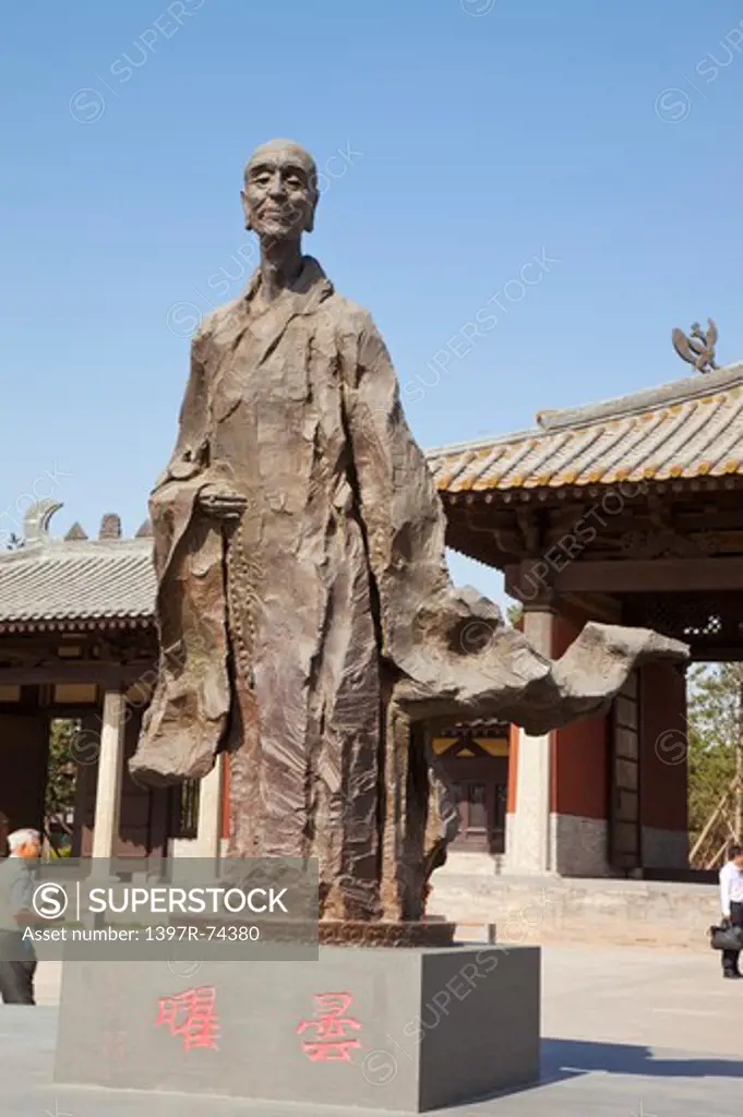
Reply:
M309 231L317 202L315 164L295 144L265 144L245 172L246 228L259 237L295 239Z

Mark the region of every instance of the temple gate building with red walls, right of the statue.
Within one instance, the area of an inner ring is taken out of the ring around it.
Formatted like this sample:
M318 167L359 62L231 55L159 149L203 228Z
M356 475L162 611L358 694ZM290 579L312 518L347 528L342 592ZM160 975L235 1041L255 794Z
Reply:
M429 454L448 545L505 575L556 658L582 626L645 626L693 660L743 656L743 364ZM601 718L512 727L506 868L663 875L688 863L685 669L651 663Z

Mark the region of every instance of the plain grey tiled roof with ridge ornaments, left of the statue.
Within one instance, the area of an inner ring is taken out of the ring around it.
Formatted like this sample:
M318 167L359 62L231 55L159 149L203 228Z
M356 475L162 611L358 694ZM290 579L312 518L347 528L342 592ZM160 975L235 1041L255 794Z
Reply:
M49 517L29 513L26 545L0 552L0 623L152 618L151 538L53 540Z

